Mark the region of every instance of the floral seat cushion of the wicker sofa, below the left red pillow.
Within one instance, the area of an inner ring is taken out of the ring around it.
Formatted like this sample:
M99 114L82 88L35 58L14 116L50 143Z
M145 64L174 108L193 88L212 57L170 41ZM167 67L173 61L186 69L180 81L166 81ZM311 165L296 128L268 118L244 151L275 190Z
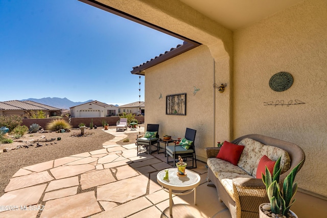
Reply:
M218 174L221 172L227 173L236 173L246 175L247 173L243 171L238 166L233 165L232 163L219 159L219 158L208 158L206 163L209 168L211 168L212 172L215 174L216 178L218 178Z

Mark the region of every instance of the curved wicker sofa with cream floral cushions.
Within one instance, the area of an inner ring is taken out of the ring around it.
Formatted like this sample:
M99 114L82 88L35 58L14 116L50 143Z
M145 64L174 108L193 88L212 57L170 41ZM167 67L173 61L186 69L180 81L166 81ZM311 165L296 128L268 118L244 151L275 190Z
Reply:
M258 164L262 154L264 153L271 160L276 160L281 152L285 153L283 153L285 159L282 158L281 161L283 171L279 180L282 183L290 171L301 160L305 160L305 153L296 144L258 134L245 135L231 143L245 146L237 166L216 158L220 148L206 148L207 179L212 182L210 184L216 186L219 200L228 207L231 217L257 218L259 205L269 202L262 179L255 178L256 167L258 167L255 164ZM279 150L279 153L272 150ZM298 171L303 163L304 161Z

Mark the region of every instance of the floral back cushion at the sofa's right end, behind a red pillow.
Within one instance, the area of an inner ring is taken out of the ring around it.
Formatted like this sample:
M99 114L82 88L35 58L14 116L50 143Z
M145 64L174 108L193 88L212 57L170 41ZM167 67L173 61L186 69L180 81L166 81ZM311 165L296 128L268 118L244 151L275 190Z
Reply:
M282 167L282 172L281 174L285 173L286 171L288 171L288 169L290 168L290 164L291 164L291 159L290 156L288 155L288 153L283 150L283 149L279 149L277 147L274 146L264 146L262 147L262 150L260 152L260 158L256 161L256 165L259 165L259 161L261 159L261 157L263 157L264 155L266 155L270 160L276 161L279 157L281 158L281 167ZM256 171L257 171L258 167L256 167L252 173L252 176L256 176Z

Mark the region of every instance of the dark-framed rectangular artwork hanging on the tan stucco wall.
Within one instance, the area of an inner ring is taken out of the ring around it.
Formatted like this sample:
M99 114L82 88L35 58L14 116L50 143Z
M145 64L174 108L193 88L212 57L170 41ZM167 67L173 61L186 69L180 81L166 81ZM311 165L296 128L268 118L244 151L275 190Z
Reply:
M186 115L186 93L166 96L167 115Z

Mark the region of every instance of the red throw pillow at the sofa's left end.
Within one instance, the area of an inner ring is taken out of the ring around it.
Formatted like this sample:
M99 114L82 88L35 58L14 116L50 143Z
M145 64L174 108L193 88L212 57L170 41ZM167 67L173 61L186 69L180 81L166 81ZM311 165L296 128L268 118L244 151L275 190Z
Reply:
M241 157L244 146L224 141L223 146L220 148L217 158L226 160L234 165L237 165Z

